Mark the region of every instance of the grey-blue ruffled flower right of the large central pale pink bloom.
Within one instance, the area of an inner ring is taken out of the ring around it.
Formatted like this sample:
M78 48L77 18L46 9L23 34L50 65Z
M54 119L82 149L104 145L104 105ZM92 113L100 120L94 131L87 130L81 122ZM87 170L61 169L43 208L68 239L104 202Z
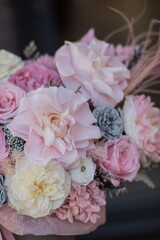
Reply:
M123 121L115 108L100 106L93 110L93 115L104 138L114 140L120 137L123 132Z

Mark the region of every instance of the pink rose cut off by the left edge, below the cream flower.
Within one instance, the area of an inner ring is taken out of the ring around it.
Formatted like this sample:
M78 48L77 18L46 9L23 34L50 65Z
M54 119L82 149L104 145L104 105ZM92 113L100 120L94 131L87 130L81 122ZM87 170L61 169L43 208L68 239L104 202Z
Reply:
M7 123L16 115L25 92L10 82L0 84L0 124Z

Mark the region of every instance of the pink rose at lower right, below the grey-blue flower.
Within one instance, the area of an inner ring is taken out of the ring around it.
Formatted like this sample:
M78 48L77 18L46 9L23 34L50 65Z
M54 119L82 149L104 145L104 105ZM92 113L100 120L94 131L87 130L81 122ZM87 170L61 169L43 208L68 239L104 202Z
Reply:
M109 140L104 145L104 156L99 164L115 179L132 181L140 168L137 147L129 141L128 136Z

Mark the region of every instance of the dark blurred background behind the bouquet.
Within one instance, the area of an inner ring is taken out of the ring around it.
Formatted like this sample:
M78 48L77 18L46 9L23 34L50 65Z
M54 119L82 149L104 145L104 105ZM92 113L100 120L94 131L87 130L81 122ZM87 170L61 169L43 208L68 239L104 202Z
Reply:
M160 20L159 0L0 0L0 49L23 57L24 47L35 40L41 53L54 54L64 40L78 40L90 27L104 39L124 20L108 7L130 19L144 8L135 33L147 30L152 19ZM114 36L113 43L125 43L127 31ZM157 103L160 101L157 97ZM108 199L107 223L78 239L160 240L160 169L149 173L156 185L128 184L128 193Z

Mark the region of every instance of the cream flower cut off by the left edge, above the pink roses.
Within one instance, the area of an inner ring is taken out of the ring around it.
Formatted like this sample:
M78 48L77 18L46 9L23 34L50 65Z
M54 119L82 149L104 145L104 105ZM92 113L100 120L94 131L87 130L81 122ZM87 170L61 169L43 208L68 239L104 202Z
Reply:
M20 57L6 50L0 50L0 81L7 80L23 65L24 63Z

